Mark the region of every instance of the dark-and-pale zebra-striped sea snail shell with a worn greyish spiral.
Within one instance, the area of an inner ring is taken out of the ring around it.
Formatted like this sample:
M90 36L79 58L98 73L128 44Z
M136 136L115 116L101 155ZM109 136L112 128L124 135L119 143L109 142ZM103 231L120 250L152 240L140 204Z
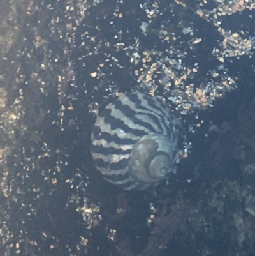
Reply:
M120 94L96 119L91 154L106 181L143 190L175 173L177 138L175 119L157 96Z

